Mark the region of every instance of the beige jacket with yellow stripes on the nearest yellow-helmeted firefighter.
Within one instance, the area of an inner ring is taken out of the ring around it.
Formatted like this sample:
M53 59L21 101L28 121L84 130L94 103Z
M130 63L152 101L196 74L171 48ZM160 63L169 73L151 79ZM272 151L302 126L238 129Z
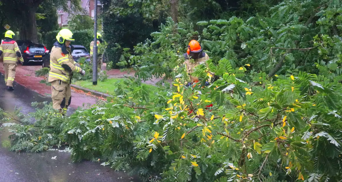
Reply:
M61 80L65 83L70 83L73 72L82 72L80 67L75 66L76 62L74 62L70 50L68 50L68 52L69 54L65 55L63 54L61 47L52 47L50 54L49 82ZM67 66L63 66L64 64ZM65 70L64 67L70 67L71 72Z

